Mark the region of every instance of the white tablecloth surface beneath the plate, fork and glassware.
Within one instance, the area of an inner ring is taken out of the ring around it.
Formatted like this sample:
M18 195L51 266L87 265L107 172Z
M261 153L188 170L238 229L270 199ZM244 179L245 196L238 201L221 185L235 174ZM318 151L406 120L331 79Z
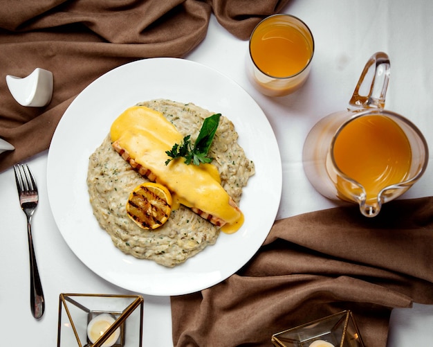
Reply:
M302 169L302 145L317 120L347 107L365 62L376 51L385 51L391 60L387 109L403 114L418 125L433 149L433 44L430 42L433 1L299 0L290 1L284 12L303 19L315 37L311 76L291 96L268 98L250 86L244 72L248 42L230 35L214 17L205 40L186 57L238 82L268 117L282 154L283 194L277 218L333 206L308 183ZM48 204L47 153L28 161L40 194L33 218L33 237L46 312L39 321L30 314L26 219L19 207L13 170L0 174L2 346L56 346L58 301L62 292L128 293L93 274L64 242ZM433 165L430 165L421 181L404 197L433 195L432 178ZM143 346L171 346L169 297L144 297ZM395 309L391 314L388 346L431 346L432 327L432 305Z

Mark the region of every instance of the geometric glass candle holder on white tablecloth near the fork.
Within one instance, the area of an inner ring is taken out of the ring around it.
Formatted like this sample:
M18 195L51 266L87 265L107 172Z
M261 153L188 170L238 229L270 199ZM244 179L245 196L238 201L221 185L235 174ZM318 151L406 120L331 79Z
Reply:
M140 295L60 294L57 347L141 347Z

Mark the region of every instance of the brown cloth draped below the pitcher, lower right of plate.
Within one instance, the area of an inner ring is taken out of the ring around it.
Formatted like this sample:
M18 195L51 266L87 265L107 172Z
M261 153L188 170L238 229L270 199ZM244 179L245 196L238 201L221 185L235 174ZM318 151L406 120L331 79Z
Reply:
M223 256L223 255L221 255ZM366 347L385 347L392 308L433 304L433 197L275 222L257 254L209 289L172 297L174 346L272 346L282 330L352 310Z

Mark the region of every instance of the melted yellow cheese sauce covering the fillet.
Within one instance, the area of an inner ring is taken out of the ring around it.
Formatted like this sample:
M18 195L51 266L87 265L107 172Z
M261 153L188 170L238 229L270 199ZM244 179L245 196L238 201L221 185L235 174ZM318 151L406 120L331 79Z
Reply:
M219 172L212 164L187 165L178 158L165 165L167 150L181 143L183 136L160 112L143 106L134 106L123 112L111 125L111 141L144 168L158 177L156 181L173 193L177 204L199 208L221 218L221 230L234 233L243 224L239 208L230 206L230 197L221 186Z

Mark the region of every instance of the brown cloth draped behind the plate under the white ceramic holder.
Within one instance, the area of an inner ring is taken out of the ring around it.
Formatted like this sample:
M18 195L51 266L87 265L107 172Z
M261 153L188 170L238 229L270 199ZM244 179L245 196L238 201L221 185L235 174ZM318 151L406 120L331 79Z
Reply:
M0 0L0 138L15 146L0 154L0 172L48 149L68 105L100 75L133 60L185 56L205 37L212 11L247 39L287 2ZM22 78L37 67L53 73L53 98L46 107L23 107L6 75Z

